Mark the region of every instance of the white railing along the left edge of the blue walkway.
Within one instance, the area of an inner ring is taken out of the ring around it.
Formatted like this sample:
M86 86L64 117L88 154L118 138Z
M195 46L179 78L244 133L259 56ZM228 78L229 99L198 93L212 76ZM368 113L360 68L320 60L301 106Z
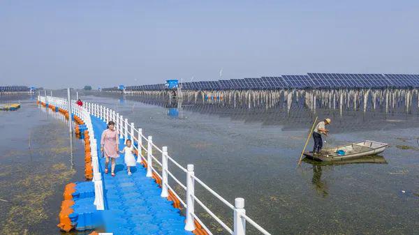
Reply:
M60 109L68 111L68 100L64 98L52 97L52 96L38 96L38 101L46 103L48 105L54 105ZM68 113L68 121L71 122L71 114L78 116L84 124L87 126L89 131L90 140L90 153L91 153L91 167L93 168L93 182L94 182L94 205L98 210L104 210L105 204L103 200L103 183L101 179L101 172L98 165L98 151L97 151L97 140L94 137L93 126L91 125L91 113L86 106L80 107L75 105L75 100L71 100L71 112Z

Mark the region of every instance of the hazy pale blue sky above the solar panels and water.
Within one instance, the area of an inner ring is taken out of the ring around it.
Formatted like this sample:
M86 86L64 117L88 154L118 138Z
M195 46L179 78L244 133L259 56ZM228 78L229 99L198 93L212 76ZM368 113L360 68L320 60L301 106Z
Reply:
M418 29L418 0L0 0L0 84L418 74Z

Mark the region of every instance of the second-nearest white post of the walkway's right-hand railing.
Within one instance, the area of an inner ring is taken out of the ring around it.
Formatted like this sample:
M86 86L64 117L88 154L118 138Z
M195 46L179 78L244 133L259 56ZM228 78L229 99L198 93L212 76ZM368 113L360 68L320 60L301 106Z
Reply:
M193 213L195 213L194 203L195 199L195 181L193 179L193 165L188 165L188 172L186 172L186 231L195 230L195 223L193 222Z

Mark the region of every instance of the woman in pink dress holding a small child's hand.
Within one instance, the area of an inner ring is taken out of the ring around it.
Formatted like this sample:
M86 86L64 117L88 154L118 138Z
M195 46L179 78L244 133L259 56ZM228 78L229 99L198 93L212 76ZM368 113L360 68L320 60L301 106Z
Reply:
M115 176L115 158L119 158L119 138L115 130L115 123L109 121L108 129L103 130L101 137L101 151L105 156L105 174L108 174L109 158L111 161L111 174Z

